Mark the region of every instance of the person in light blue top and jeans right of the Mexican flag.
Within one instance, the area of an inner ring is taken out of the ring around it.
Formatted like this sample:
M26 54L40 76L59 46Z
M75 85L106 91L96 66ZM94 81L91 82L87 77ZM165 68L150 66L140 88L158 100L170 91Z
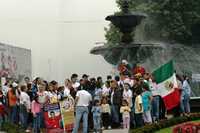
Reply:
M183 100L181 101L181 109L184 114L190 113L190 95L191 95L191 87L189 85L189 78L188 76L183 76L183 86L182 86L182 94L181 97L183 97Z

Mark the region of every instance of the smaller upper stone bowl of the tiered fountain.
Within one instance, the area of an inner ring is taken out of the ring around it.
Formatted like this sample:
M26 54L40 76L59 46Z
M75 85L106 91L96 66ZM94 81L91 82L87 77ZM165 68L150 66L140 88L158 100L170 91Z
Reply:
M142 19L146 17L147 15L144 13L131 12L110 15L106 17L106 20L111 21L122 33L131 33L133 28L139 25Z

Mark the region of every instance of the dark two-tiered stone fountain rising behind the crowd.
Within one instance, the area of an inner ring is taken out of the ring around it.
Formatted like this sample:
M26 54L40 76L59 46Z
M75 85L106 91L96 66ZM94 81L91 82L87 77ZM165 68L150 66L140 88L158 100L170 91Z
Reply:
M107 21L111 21L122 32L121 42L114 46L95 47L90 53L102 55L107 62L113 65L117 65L122 59L134 65L144 62L147 56L153 54L152 49L161 48L160 44L134 42L134 30L146 17L144 13L130 12L128 1L124 0L122 13L106 17Z

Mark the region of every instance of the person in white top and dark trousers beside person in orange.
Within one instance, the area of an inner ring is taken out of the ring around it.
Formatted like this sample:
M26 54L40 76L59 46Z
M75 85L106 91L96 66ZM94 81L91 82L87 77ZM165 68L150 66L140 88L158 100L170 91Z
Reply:
M30 103L30 97L29 95L26 93L27 88L25 85L22 85L20 87L20 95L19 95L19 120L20 123L22 124L22 127L24 127L25 129L27 129L27 123L28 123L28 112L30 111L31 107L31 103Z

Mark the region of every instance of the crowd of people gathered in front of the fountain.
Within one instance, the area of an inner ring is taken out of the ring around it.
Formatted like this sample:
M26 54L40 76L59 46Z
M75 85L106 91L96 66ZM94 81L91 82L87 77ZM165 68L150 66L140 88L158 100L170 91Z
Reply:
M191 88L188 78L177 78L181 91L180 111L190 113ZM101 132L111 128L138 128L166 119L166 109L162 97L157 93L157 85L152 75L147 72L120 76L90 78L84 74L79 79L72 74L64 86L58 82L47 82L36 78L26 84L6 82L0 90L0 124L9 120L20 124L27 132L44 132L44 105L72 96L75 100L75 120L73 133L90 129ZM1 126L0 125L0 126Z

